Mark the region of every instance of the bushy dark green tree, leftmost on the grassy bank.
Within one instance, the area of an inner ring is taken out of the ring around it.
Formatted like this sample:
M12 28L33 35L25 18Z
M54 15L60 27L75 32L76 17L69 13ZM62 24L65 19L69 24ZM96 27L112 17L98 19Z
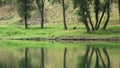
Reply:
M25 20L25 28L28 28L27 19L31 17L32 0L18 0L18 14Z

